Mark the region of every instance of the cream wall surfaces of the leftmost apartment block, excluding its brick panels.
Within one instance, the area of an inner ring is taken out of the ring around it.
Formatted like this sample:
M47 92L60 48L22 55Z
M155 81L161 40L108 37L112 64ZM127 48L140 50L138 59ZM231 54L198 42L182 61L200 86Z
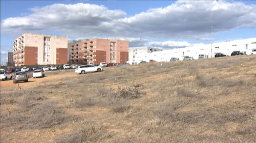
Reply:
M49 40L45 38L49 38ZM67 48L67 36L65 35L25 33L13 42L14 56L19 56L18 54L21 50L24 51L25 47L37 47L36 63L40 65L56 64L56 60L54 59L56 59L57 47ZM23 54L28 56L28 54ZM24 61L23 59L24 58L15 59L16 65L25 65L24 62L22 62Z

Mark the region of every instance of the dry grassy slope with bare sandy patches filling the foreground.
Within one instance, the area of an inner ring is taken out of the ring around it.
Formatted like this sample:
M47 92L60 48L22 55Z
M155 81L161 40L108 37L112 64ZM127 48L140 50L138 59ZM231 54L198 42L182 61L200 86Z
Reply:
M256 55L1 81L1 142L255 142Z

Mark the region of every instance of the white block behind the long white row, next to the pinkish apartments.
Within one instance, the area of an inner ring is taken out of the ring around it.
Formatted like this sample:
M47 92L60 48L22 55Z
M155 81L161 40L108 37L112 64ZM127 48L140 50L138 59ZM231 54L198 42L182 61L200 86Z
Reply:
M136 61L137 54L152 53L154 51L163 51L163 50L161 48L154 48L154 47L130 47L128 63L133 65L137 64L137 61ZM143 58L141 60L143 60Z

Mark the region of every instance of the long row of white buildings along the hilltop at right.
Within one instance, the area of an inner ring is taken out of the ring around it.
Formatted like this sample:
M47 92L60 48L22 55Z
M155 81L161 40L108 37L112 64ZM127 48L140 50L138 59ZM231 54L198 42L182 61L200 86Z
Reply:
M170 58L172 57L180 60L183 60L184 57L193 57L193 59L207 59L214 57L216 53L222 53L226 56L231 56L233 51L241 51L245 54L251 54L252 50L256 50L256 38L215 42L213 44L205 45L199 44L185 48L173 48L172 50L160 49L154 52L149 52L148 49L150 48L141 48L144 48L144 50L139 50L140 47L130 48L128 61L130 64L138 64L141 61L149 62L150 60L155 60L157 62L169 62Z

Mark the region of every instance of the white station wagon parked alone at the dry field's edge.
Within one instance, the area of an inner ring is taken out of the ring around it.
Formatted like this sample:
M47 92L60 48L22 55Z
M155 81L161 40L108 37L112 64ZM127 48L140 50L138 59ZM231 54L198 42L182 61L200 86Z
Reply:
M94 65L81 65L75 69L75 73L78 74L86 74L87 72L101 72L101 66L94 66Z

